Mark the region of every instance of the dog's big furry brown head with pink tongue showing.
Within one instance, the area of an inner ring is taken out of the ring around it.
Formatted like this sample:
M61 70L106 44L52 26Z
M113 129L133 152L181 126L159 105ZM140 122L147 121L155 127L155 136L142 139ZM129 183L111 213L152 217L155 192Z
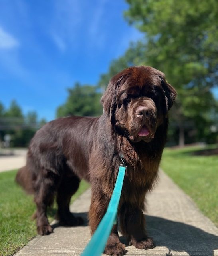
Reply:
M113 126L129 140L150 142L176 95L161 71L138 66L111 78L101 102Z

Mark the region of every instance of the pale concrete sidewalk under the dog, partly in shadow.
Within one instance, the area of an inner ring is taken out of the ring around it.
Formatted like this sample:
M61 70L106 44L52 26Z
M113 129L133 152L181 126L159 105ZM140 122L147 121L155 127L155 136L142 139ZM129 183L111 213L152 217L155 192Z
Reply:
M160 172L157 187L147 196L147 231L156 247L139 250L127 246L126 255L218 256L218 229L166 174ZM200 189L200 188L199 188ZM72 212L86 216L90 190L77 199ZM54 225L55 226L55 225ZM90 239L89 227L59 227L49 236L37 236L17 256L77 256ZM125 239L121 237L121 241Z

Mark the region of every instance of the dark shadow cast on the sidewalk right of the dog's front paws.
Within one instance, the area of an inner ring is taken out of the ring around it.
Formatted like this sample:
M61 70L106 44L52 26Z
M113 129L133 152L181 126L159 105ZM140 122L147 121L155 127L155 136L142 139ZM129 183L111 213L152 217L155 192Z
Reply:
M145 216L148 235L153 237L155 246L166 246L169 251L184 251L190 256L213 256L218 249L218 236L207 233L200 228L166 220L164 218Z

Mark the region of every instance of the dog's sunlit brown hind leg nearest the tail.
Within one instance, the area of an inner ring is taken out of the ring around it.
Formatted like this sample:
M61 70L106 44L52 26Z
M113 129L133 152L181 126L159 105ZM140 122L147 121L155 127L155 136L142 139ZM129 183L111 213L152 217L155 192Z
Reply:
M37 233L48 235L53 232L47 218L47 207L51 206L54 200L55 191L57 191L58 180L60 176L51 170L42 170L40 177L35 185L36 203L36 226Z

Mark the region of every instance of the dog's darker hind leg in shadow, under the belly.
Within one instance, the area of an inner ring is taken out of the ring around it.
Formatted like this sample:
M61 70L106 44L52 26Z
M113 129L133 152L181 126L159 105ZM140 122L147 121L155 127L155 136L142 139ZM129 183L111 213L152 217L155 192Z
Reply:
M79 188L80 179L71 174L63 176L57 191L57 219L61 225L77 226L83 224L81 217L75 217L69 210L71 196Z

